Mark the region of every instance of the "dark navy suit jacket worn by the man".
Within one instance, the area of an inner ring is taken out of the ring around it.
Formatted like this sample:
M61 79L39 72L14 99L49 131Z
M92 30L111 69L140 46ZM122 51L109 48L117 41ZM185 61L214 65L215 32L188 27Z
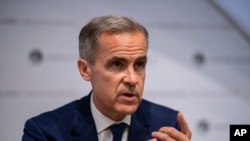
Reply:
M179 129L177 111L142 100L131 116L128 140L146 141L163 126ZM98 141L90 94L27 120L22 141Z

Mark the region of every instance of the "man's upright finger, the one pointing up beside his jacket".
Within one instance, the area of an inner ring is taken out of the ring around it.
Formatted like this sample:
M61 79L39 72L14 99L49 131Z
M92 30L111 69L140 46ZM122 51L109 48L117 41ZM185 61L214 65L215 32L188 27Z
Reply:
M180 113L180 112L178 113L177 120L178 120L178 123L180 125L181 132L183 134L185 134L189 139L191 139L192 132L189 129L188 124L187 124L186 120L184 119L184 116L182 113Z

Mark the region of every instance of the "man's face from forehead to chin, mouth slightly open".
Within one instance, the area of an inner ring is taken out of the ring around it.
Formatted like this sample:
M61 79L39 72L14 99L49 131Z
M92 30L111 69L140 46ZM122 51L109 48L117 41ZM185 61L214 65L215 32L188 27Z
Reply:
M147 44L140 32L111 34L99 39L90 81L94 103L113 120L136 111L142 100Z

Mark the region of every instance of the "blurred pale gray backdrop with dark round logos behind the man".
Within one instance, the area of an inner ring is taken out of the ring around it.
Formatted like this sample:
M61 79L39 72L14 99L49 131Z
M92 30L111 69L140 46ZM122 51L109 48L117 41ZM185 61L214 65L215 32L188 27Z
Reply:
M85 96L78 34L93 17L136 19L150 34L144 98L184 113L192 141L250 124L249 0L0 0L0 140Z

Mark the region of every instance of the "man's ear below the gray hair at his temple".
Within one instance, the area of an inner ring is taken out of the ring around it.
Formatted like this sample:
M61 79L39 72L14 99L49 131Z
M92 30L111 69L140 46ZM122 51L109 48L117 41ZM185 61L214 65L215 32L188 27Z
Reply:
M90 81L91 80L91 70L90 70L90 66L89 66L89 63L87 62L87 60L80 58L80 59L78 59L77 64L78 64L78 70L79 70L82 78L86 81Z

